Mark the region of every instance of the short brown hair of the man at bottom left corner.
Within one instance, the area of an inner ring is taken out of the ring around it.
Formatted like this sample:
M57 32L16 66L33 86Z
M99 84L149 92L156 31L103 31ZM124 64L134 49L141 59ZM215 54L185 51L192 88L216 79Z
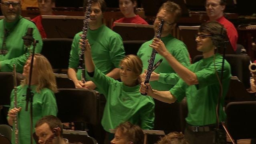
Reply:
M60 136L62 137L63 126L60 119L53 115L44 116L36 122L35 128L41 126L44 123L48 124L51 130L53 130L54 128L60 128Z

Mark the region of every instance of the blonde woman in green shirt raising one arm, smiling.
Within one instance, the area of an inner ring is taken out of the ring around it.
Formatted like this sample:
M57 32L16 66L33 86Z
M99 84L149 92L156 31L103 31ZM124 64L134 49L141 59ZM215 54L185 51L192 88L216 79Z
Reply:
M137 124L144 130L153 129L155 103L151 97L142 96L139 92L139 84L142 81L140 58L135 55L127 55L121 60L121 82L119 82L95 68L91 57L91 46L88 41L86 42L85 66L87 73L107 100L101 120L105 131L109 132L109 128L116 128L125 121Z

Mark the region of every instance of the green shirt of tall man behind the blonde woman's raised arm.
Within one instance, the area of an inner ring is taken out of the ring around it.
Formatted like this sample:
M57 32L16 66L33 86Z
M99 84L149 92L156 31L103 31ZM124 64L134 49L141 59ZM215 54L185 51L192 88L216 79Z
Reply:
M82 32L75 35L71 46L69 56L69 68L79 66L79 39ZM91 45L91 55L93 62L101 72L109 73L114 68L119 67L119 62L124 58L125 51L123 48L123 40L119 34L102 25L97 30L88 30L87 39ZM86 80L91 80L90 76L85 72ZM81 70L77 70L77 79L81 80Z

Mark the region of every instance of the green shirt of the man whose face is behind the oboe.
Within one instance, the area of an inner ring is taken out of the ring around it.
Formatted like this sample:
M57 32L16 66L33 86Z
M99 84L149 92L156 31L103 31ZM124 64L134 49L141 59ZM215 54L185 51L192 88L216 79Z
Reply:
M189 54L187 47L183 42L177 40L171 35L161 38L167 50L178 60L183 66L189 66ZM152 44L153 40L145 42L139 48L137 55L143 62L143 70L147 70L148 60L151 56L152 48L149 44ZM160 54L156 54L154 64L163 58ZM163 62L155 69L157 74L160 74L158 81L150 81L152 88L155 90L170 90L179 80L179 76L171 68L169 63L163 59Z

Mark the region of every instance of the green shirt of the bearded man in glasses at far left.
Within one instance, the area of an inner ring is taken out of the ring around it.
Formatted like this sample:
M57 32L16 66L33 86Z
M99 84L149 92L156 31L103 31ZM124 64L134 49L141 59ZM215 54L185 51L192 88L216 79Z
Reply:
M6 22L4 19L0 20L0 50L8 51L5 55L0 54L1 72L12 72L13 64L16 64L16 72L22 73L29 52L33 48L33 46L30 46L28 50L26 50L22 39L22 36L25 36L28 28L33 28L33 38L38 40L35 53L40 53L42 50L42 38L33 22L21 16L20 19L15 22ZM6 39L6 46L3 44L4 39Z

